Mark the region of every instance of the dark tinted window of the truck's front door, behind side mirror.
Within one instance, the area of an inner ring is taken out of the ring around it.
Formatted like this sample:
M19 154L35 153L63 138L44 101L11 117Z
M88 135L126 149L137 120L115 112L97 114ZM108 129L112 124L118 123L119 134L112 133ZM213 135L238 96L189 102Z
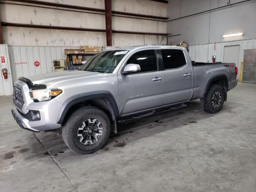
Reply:
M139 64L139 73L157 71L156 53L154 50L138 52L130 57L127 64Z

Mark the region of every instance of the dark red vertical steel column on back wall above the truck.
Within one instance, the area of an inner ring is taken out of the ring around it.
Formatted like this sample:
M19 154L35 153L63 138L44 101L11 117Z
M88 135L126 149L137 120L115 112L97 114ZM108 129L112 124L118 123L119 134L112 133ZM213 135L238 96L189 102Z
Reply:
M112 0L105 0L107 46L112 46Z

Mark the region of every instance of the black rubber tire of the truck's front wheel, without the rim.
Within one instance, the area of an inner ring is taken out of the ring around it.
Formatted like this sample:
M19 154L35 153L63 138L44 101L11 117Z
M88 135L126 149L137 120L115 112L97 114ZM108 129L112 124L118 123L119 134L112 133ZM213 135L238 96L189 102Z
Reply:
M96 143L86 146L79 141L80 139L77 134L80 124L90 118L96 118L100 120L103 127L102 135ZM108 140L109 135L110 120L108 115L104 111L93 106L84 106L78 108L71 114L67 122L62 127L62 138L65 144L68 146L68 148L78 154L89 154L99 150L104 146Z

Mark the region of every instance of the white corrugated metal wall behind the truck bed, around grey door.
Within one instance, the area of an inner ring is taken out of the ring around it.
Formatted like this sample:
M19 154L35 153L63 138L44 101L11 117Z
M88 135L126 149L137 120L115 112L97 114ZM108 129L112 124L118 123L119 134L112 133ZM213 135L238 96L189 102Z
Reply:
M209 44L198 44L189 46L189 55L192 61L197 62L212 62L212 55L216 55L216 62L224 60L224 46L240 45L239 63L236 64L240 70L240 63L244 59L244 50L256 48L256 38L216 42Z

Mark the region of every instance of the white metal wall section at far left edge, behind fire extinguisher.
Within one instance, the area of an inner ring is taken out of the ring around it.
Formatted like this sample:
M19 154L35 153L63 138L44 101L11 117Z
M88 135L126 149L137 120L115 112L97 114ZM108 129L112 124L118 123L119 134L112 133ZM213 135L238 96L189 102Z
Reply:
M9 54L8 54L8 48L6 44L0 44L0 96L3 95L11 95L12 94L12 73L11 73L11 67L10 67L10 60L9 60ZM3 60L2 60L3 59ZM4 76L2 74L2 69L7 69L7 79L4 79Z

